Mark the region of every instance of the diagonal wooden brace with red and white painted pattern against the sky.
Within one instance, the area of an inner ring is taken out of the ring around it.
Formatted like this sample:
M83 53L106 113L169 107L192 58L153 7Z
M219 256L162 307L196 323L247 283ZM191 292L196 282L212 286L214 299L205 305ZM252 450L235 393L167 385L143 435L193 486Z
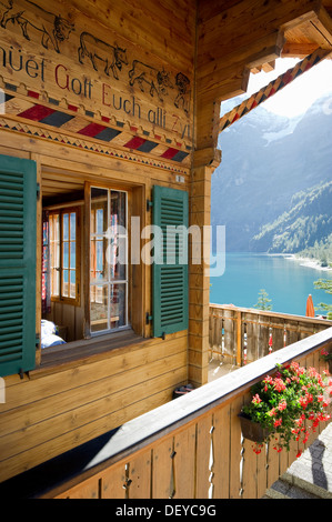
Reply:
M263 101L271 98L276 92L281 91L285 86L291 83L295 78L301 76L303 72L310 70L312 67L324 60L331 50L318 49L309 57L304 58L301 62L292 69L271 81L266 87L263 87L260 91L252 94L248 100L244 100L240 106L237 106L231 111L227 112L221 119L219 124L219 132L230 127L232 123L238 121L248 112L255 109Z

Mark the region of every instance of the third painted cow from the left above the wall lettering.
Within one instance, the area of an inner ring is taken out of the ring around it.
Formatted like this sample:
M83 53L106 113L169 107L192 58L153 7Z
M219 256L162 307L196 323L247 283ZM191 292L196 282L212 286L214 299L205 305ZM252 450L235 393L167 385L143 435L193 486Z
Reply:
M133 60L129 78L129 84L133 86L137 82L142 92L144 92L144 83L147 83L150 87L150 96L153 97L155 92L160 101L163 101L163 94L168 94L168 87L173 89L169 72L159 71L139 60Z

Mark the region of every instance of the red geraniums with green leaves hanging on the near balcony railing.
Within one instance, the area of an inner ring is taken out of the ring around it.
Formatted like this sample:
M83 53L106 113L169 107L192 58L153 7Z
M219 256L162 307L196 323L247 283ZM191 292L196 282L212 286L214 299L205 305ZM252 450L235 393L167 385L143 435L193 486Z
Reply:
M314 432L320 422L328 421L329 404L328 388L331 382L324 382L314 368L308 370L296 362L282 368L278 365L275 377L268 375L261 382L252 387L252 400L242 408L241 416L259 424L265 430L259 439L248 435L244 423L242 434L254 440L253 450L260 453L264 443L274 440L279 434L279 442L273 444L276 451L283 448L289 451L292 440L308 441L311 432ZM306 421L306 422L304 422ZM299 456L301 452L298 453Z

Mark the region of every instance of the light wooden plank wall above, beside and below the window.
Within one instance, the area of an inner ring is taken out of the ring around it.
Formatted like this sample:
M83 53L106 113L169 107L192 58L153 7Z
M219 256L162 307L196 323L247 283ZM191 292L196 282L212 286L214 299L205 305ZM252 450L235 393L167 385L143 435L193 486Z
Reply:
M85 180L130 187L132 212L141 217L142 225L150 220L145 200L153 183L189 187L188 169L179 183L172 168L151 162L140 165L133 159L108 158L11 130L1 130L0 151L32 154L40 168L41 190L47 180L47 193L57 183L66 188L63 181L78 188ZM187 331L165 341L139 337L150 335L144 324L144 310L150 310L150 270L143 265L135 270L133 283L141 292L132 313L135 340L118 349L110 345L107 352L85 351L81 360L56 358L46 367L39 352L41 367L29 378L6 378L6 403L0 404L0 481L168 402L173 390L188 382Z

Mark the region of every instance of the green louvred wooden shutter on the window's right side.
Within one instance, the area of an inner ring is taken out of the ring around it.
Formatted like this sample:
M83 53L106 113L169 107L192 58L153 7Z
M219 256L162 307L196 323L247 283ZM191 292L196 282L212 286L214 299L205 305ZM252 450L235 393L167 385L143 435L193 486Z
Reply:
M163 337L188 329L188 193L154 185L152 209L162 230L162 241L154 235L153 335Z

